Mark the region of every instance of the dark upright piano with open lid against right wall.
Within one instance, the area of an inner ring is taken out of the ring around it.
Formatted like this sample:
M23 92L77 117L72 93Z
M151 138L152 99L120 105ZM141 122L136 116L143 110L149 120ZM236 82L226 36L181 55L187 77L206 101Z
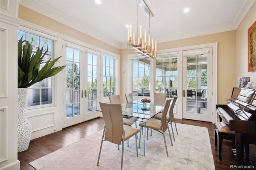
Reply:
M216 105L216 111L220 121L235 133L237 164L248 165L249 144L256 144L256 89L233 87L227 100L226 105Z

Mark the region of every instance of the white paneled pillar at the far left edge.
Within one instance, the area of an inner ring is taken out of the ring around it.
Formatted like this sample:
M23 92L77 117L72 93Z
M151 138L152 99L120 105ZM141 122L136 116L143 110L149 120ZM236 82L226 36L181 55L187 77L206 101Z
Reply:
M0 0L0 170L19 170L17 28L19 0Z

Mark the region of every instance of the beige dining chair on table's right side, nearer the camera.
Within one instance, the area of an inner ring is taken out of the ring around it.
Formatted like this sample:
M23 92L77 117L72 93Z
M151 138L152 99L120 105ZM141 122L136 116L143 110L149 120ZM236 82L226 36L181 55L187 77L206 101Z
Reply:
M162 112L162 117L161 117L160 120L159 119L150 119L150 120L146 121L145 123L141 122L139 124L140 125L140 139L141 139L142 127L151 128L151 129L157 130L158 132L163 134L164 144L165 144L165 149L166 149L166 155L167 156L168 156L168 151L167 151L167 146L166 146L166 140L165 140L164 132L168 129L170 140L171 140L171 144L172 144L172 137L171 137L170 129L169 129L169 126L168 126L168 123L167 123L167 119L166 119L166 115L167 115L167 112L169 110L171 101L172 101L172 99L166 100L165 105L164 105L164 111ZM147 138L148 138L148 130L147 130ZM140 139L139 139L139 148L140 148Z

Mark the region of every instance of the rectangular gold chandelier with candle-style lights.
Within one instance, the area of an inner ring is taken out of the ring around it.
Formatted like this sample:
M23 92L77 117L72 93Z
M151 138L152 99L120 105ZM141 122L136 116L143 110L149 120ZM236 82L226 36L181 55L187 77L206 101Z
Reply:
M142 38L142 26L140 26L139 34L138 34L138 4L141 6L142 10L146 13L149 18L149 34L147 36L146 30L144 33L144 39ZM138 54L142 54L142 56L146 57L156 57L156 42L154 40L150 40L150 18L154 17L144 0L137 0L137 32L132 34L132 24L127 30L127 48L133 49L134 52L138 52ZM147 40L148 38L148 40ZM152 42L152 43L150 43Z

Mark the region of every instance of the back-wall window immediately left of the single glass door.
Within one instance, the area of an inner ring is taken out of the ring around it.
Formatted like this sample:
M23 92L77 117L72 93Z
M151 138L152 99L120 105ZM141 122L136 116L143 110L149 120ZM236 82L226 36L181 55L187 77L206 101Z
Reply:
M157 56L156 92L167 93L167 97L177 95L178 54Z

